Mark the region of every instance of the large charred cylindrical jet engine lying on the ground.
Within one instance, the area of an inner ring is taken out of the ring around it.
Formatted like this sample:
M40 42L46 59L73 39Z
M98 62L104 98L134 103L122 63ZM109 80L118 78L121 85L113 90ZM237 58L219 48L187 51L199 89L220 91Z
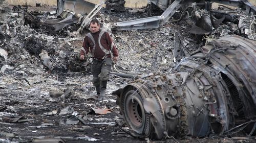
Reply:
M240 36L222 37L203 46L201 58L184 58L170 73L119 89L127 125L137 136L162 139L222 135L237 119L254 120L255 47Z

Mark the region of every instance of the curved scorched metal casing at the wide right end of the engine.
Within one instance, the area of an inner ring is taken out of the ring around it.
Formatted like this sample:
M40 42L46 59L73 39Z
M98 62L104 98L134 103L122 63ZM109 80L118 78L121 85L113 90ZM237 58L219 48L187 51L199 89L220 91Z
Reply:
M210 56L209 61L230 73L229 78L243 99L244 111L255 114L256 105L256 41L232 35L225 36L202 47L202 51ZM214 54L209 54L213 51ZM248 106L250 105L250 106ZM253 108L254 107L254 108Z

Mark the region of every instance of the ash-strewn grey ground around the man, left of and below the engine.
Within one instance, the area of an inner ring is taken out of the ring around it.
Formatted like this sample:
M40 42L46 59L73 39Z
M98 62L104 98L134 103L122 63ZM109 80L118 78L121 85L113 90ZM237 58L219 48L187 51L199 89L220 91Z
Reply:
M51 33L44 25L33 27L22 16L8 13L12 12L10 8L6 5L0 13L0 48L8 53L7 57L0 56L0 142L35 142L46 138L65 142L256 142L254 137L241 137L239 133L205 138L170 137L162 141L133 137L112 92L134 79L112 74L105 100L96 100L90 59L77 59L83 35L89 31L77 34L77 26L70 26ZM44 11L55 9L43 7ZM102 10L97 15L106 23L146 16L146 9L125 9L121 13ZM115 68L140 75L169 71L176 61L205 44L188 32L193 21L186 17L159 29L112 31L120 55ZM210 38L237 34L238 30L232 23L226 23L216 33ZM183 45L181 54L177 54L177 43ZM42 50L54 63L52 70L42 63ZM99 114L96 108L109 113Z

